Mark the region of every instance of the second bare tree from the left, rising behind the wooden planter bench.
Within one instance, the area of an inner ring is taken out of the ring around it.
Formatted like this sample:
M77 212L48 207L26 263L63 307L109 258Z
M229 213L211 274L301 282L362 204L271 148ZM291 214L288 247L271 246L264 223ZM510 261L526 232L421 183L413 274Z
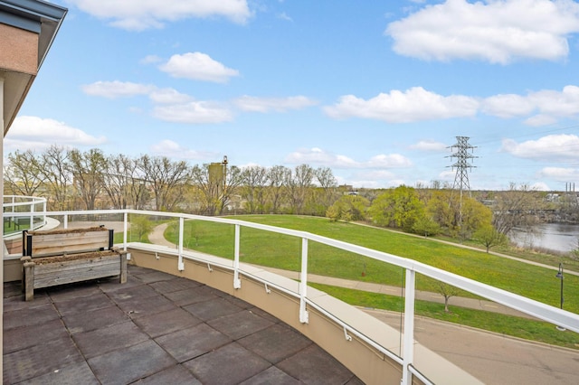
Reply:
M40 156L40 173L50 188L52 200L50 204L56 210L71 209L72 174L68 169L68 156L61 146L50 146ZM50 210L52 210L52 208Z

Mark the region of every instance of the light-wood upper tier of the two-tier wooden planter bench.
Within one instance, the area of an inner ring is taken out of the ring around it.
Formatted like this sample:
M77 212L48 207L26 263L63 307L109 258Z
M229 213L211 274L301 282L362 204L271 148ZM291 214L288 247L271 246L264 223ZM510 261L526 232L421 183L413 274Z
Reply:
M112 229L24 230L22 255L31 258L111 249Z

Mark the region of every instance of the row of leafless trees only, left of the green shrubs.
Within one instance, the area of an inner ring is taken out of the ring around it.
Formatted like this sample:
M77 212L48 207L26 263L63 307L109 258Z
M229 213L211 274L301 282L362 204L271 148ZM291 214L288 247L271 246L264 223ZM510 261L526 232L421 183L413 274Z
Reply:
M7 156L5 194L42 196L49 211L127 209L203 215L295 213L324 215L337 194L328 167L300 164L241 169L189 165L166 156L104 155L51 146Z

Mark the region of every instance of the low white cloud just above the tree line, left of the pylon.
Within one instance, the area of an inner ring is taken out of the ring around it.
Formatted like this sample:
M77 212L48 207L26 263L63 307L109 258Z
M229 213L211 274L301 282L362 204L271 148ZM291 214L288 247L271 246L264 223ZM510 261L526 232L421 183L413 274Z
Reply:
M285 161L290 164L321 164L333 168L399 168L412 165L410 159L399 154L375 155L365 162L356 161L346 155L335 155L314 147L299 149L288 156Z

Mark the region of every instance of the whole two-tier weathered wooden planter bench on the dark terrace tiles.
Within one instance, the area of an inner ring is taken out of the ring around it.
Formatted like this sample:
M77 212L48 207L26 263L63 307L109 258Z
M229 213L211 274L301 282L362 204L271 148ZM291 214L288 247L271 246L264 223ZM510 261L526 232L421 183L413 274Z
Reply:
M127 252L113 248L113 230L104 227L23 231L22 286L26 301L34 289L102 277L127 282Z

